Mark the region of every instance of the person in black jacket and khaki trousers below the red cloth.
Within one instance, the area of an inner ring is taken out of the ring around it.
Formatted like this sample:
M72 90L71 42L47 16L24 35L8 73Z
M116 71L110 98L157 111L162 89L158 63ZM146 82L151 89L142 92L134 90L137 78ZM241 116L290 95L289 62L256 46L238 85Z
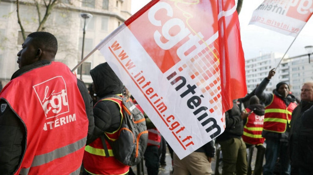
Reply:
M225 112L225 131L216 138L216 142L221 145L223 154L223 175L247 174L246 144L242 139L244 133L243 119L248 117L248 113L241 113L233 100L233 108Z

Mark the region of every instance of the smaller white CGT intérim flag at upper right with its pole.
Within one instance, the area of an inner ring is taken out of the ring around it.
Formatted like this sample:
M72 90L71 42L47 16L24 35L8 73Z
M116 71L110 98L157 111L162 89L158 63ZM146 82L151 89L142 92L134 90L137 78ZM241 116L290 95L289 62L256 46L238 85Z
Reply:
M305 4L302 0L264 0L253 12L249 24L295 37L275 70L313 14L313 3L309 1Z

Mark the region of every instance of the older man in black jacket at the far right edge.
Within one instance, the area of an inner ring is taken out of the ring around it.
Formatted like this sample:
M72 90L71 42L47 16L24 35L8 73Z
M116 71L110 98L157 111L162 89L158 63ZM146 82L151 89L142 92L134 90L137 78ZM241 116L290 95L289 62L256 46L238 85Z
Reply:
M301 102L293 110L289 133L291 175L310 175L313 172L313 81L301 89Z

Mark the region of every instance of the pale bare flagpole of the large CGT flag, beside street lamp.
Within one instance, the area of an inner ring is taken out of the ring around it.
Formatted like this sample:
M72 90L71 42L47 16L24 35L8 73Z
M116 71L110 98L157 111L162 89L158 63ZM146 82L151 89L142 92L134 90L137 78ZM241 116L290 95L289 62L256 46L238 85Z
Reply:
M86 61L96 50L100 50L105 44L107 44L116 34L123 30L126 25L123 23L117 27L111 34L109 34L105 39L103 39L84 59L82 59L71 71L74 72L83 62Z

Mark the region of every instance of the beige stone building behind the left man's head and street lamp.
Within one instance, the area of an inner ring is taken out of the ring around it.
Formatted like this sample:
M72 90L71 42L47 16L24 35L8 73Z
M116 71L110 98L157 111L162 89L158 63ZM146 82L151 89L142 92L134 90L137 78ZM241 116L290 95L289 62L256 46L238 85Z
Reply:
M90 13L85 35L84 57L105 39L114 29L131 17L131 0L58 0L44 25L44 31L58 39L58 53L55 60L67 64L72 69L81 60L84 19L81 13ZM38 0L41 14L45 14L42 0ZM18 70L17 53L23 43L18 24L16 0L0 1L0 81L5 85ZM20 0L20 17L26 34L38 27L38 14L34 0ZM105 58L96 51L83 63L82 78L89 84L92 79L90 69ZM80 76L80 68L75 72Z

